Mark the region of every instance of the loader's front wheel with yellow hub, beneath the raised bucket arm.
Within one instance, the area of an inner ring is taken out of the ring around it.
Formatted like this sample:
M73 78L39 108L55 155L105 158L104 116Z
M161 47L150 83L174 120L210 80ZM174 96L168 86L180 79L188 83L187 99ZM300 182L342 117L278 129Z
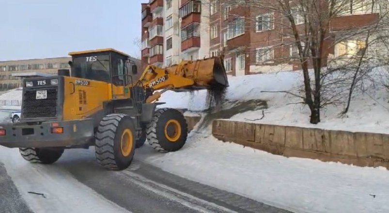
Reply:
M174 120L180 129L179 134L173 133L176 136L175 138L177 138L174 141L166 136L169 133L165 130L171 120ZM156 151L175 152L180 150L187 141L187 122L180 111L171 108L161 108L154 113L152 122L147 125L146 133L147 141Z

